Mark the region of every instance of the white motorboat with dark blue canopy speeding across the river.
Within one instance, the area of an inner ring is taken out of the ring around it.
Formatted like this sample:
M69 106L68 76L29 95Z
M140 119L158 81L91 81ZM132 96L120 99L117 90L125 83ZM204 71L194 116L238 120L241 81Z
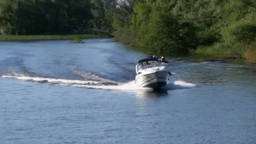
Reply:
M167 84L168 69L157 57L148 57L136 62L135 83L145 88L161 88Z

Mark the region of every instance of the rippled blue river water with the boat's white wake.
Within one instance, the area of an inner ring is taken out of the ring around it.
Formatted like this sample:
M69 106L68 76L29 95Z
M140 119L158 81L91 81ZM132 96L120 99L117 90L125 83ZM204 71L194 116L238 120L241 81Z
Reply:
M153 91L134 83L147 53L85 42L0 42L1 144L256 143L255 65L166 58Z

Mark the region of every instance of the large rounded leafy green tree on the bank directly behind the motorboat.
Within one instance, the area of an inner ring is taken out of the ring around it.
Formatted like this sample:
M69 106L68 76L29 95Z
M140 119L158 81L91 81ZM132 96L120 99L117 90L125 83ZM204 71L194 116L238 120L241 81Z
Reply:
M195 49L195 27L174 16L171 5L163 2L135 5L131 30L136 34L136 43L162 51L186 52ZM148 14L147 14L148 13Z

